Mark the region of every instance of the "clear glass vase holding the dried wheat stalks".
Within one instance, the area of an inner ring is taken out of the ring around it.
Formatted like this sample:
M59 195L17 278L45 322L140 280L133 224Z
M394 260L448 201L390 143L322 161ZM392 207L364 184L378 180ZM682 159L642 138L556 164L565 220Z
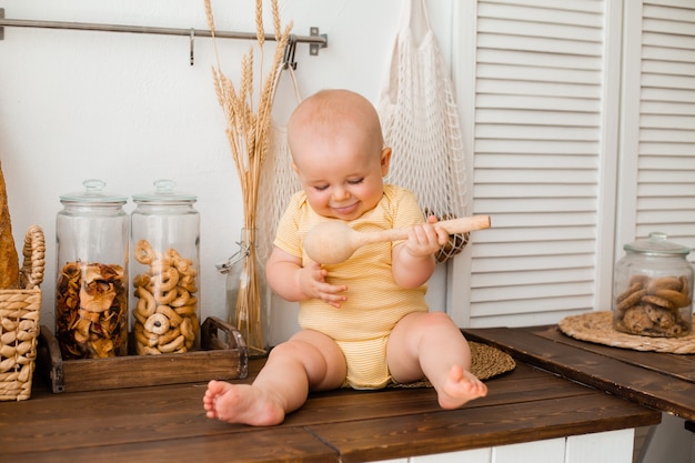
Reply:
M221 268L229 323L244 338L251 358L265 356L270 349L271 298L259 238L258 229L242 229L236 253Z

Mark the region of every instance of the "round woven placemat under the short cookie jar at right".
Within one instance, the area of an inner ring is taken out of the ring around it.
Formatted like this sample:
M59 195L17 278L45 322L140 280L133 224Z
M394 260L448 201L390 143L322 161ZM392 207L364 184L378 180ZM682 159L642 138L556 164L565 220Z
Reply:
M623 333L613 328L613 314L610 311L566 316L557 326L568 336L612 348L672 354L695 353L695 333L693 332L683 338L652 338Z

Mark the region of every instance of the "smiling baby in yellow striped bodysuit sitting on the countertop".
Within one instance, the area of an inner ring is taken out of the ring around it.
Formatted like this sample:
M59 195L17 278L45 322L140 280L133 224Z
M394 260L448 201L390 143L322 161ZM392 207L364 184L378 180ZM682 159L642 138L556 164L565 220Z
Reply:
M273 425L298 410L310 391L381 389L426 378L440 406L484 396L471 372L463 334L443 312L429 312L426 282L445 231L423 220L414 194L384 184L391 149L379 115L363 97L324 90L304 100L288 125L302 191L278 227L268 282L299 301L301 331L275 346L252 384L211 381L207 415L230 423ZM335 265L303 250L316 223L341 220L357 231L412 227L407 240L359 249Z

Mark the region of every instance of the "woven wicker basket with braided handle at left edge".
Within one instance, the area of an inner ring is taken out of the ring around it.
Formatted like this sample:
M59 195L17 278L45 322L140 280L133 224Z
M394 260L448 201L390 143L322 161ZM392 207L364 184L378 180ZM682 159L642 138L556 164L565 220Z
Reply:
M44 252L43 230L39 225L30 227L20 269L23 289L0 290L0 401L22 401L31 396Z

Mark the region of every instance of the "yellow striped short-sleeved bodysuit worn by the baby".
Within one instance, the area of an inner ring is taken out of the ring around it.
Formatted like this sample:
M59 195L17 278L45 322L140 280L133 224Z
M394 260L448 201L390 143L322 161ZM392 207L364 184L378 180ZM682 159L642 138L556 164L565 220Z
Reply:
M306 232L321 221L333 220L316 214L299 192L278 225L274 244L302 259ZM410 227L423 222L415 195L400 187L384 185L379 204L349 222L357 231L375 231ZM354 389L380 389L392 382L386 364L386 344L394 325L404 315L429 310L424 295L426 285L416 289L399 286L391 272L391 250L397 243L362 246L350 260L324 265L331 284L348 285L348 301L340 309L319 300L300 303L302 329L320 331L342 349L348 363L346 384Z

